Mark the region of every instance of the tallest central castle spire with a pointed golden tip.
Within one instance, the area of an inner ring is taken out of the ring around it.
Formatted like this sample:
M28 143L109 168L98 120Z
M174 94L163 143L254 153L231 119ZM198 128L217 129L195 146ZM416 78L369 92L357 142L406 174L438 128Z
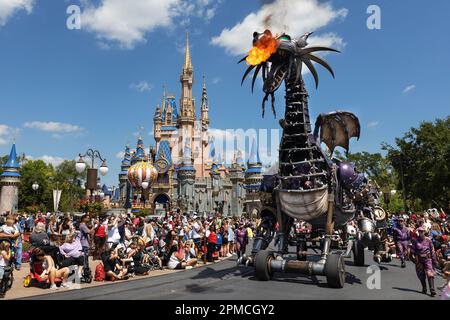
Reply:
M191 150L194 150L194 125L196 120L195 100L192 94L194 84L194 68L192 67L191 52L189 48L189 34L186 33L186 51L184 57L183 70L180 76L181 98L180 98L180 117L178 125L181 130L181 146L189 144ZM181 150L180 150L181 151Z

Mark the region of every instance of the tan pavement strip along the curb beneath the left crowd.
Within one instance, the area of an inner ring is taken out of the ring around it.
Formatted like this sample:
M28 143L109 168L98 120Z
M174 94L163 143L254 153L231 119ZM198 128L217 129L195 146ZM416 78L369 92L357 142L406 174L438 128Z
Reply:
M229 258L228 257L220 258L215 263L218 263L218 262L226 260L226 259L229 259ZM100 263L100 260L93 261L91 259L91 257L89 260L90 260L89 265L91 267L91 270L92 270L92 273L94 276L95 267L97 266L97 264ZM213 263L208 262L208 263L204 264L203 262L199 262L195 268L202 268L204 266L211 265L211 264L213 264ZM64 288L60 288L59 290L55 290L55 291L52 291L50 289L25 288L23 286L23 279L28 275L29 271L30 271L30 268L29 268L28 263L24 263L22 265L22 269L20 271L17 271L17 270L14 271L14 284L13 284L12 288L6 293L5 298L4 298L5 300L27 298L27 297L32 297L32 296L37 296L37 295L42 295L42 294L52 294L52 293L69 290L69 289L64 289ZM120 282L125 282L125 281L139 281L140 279L152 278L152 277L167 275L167 274L171 274L171 273L175 273L175 272L183 272L183 271L185 271L185 270L170 270L170 269L154 270L154 271L151 271L151 273L148 276L135 276L128 280L121 280L121 281L115 281L115 282L112 282L112 281L97 282L97 281L93 280L89 284L82 283L81 289L98 287L98 286L107 286L107 285L110 285L113 283L120 283ZM78 290L78 289L71 289L71 290Z

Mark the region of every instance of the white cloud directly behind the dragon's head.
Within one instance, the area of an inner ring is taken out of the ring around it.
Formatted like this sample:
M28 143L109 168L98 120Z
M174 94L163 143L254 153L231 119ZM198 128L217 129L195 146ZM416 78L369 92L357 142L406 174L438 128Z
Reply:
M343 19L347 14L347 9L334 9L330 3L318 0L275 0L250 13L232 28L222 30L211 43L223 47L229 54L240 55L250 49L254 31L269 28L274 33L286 32L299 37ZM342 38L334 33L311 37L308 42L337 48L344 45Z

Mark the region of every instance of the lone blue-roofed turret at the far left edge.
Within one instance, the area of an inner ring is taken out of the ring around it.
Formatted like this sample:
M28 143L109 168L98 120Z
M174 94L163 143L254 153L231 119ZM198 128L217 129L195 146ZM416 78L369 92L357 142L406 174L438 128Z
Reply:
M17 212L19 203L20 165L17 160L16 144L14 143L9 153L8 162L3 166L0 176L0 213Z

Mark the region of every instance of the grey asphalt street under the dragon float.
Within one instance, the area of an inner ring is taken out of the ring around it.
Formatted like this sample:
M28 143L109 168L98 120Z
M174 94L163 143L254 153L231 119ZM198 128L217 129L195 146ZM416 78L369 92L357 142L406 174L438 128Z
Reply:
M346 259L346 284L343 289L331 289L323 276L275 273L271 281L258 281L253 268L237 267L236 257L175 274L147 279L114 283L82 290L60 291L54 294L34 296L37 300L305 300L305 299L380 299L421 300L439 299L420 292L420 283L414 265L405 269L394 259L380 265L380 288L369 289L367 281L372 254L366 251L366 266L353 266L353 259ZM376 282L370 281L374 284ZM436 285L440 285L438 278Z

